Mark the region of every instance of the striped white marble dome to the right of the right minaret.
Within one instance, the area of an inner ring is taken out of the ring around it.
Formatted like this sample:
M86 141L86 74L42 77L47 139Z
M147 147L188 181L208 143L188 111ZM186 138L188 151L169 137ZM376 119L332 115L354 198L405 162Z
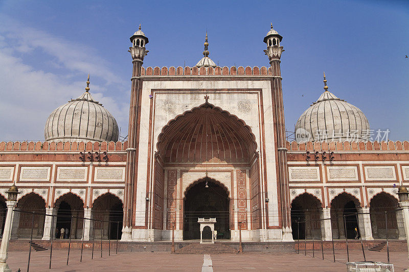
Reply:
M298 119L295 136L299 142L363 141L369 122L360 109L325 91Z

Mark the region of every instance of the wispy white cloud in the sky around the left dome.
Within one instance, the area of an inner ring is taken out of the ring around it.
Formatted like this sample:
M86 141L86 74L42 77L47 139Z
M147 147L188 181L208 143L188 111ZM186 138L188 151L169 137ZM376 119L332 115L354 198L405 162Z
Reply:
M43 140L47 117L81 94L88 71L104 80L104 86L92 85L98 90L93 96L127 127L127 97L104 95L109 86L125 88L124 81L93 48L22 26L3 14L0 25L0 140Z

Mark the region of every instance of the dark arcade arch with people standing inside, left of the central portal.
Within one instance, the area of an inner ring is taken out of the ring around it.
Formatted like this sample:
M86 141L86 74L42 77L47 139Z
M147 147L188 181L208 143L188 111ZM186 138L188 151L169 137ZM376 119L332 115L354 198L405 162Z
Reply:
M84 225L84 203L81 198L71 192L66 193L55 202L55 208L57 208L55 237L81 239Z

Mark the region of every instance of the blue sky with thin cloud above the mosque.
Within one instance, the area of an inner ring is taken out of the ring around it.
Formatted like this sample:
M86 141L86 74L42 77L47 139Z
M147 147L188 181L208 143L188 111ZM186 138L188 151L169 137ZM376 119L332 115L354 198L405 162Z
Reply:
M142 23L144 66L193 66L206 29L220 66L268 66L272 21L281 58L286 129L329 90L360 108L371 129L409 140L407 1L0 0L0 140L43 140L49 114L90 92L127 134L129 37Z

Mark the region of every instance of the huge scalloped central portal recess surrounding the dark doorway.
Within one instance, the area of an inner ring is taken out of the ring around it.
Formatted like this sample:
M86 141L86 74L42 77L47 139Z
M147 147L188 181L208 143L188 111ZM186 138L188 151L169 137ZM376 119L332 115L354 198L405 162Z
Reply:
M243 120L207 101L170 120L158 135L154 156L153 228L175 227L181 231L179 239L200 239L199 217L216 217L219 239L230 239L238 221L247 230L260 228L255 139ZM223 171L229 174L210 178ZM182 182L185 172L192 175ZM226 188L230 184L234 198Z

